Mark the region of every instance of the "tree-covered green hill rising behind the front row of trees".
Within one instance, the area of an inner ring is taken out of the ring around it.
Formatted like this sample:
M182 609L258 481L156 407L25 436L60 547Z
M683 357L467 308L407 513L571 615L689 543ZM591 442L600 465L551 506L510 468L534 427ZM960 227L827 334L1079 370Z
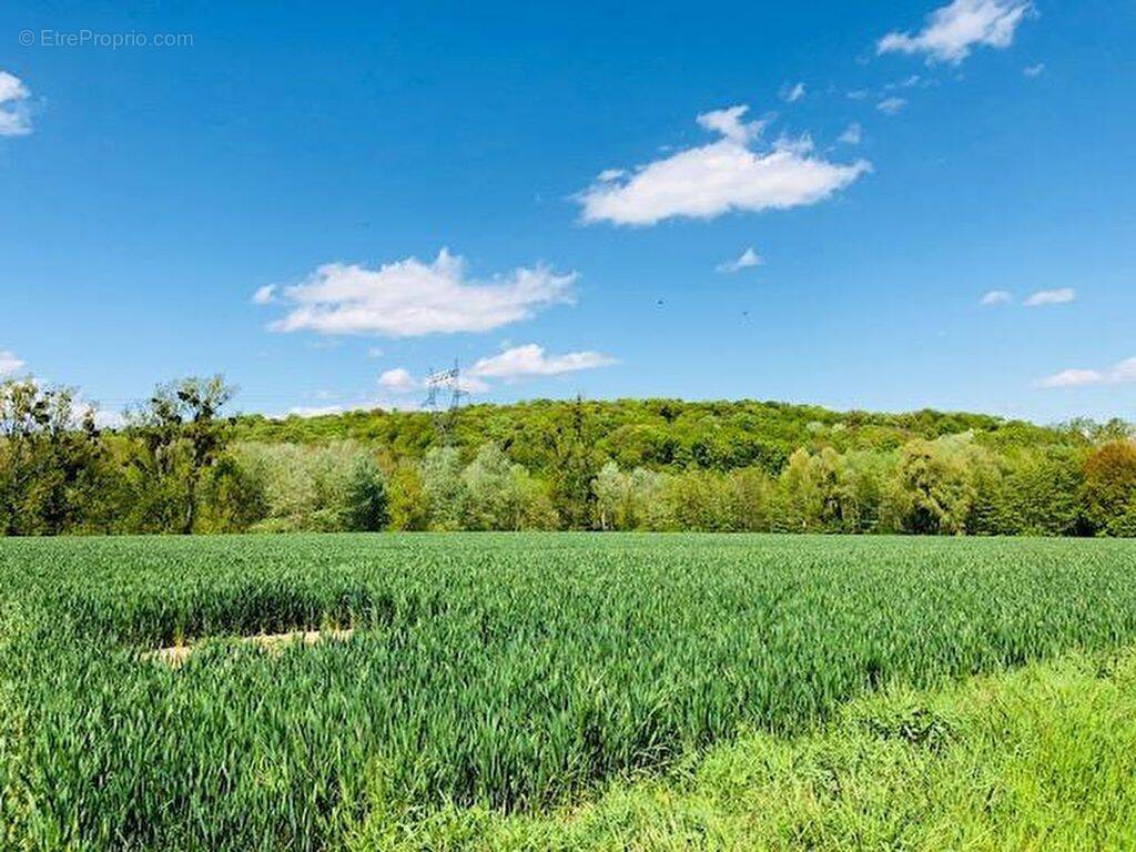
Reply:
M1119 426L1088 421L1042 427L986 415L917 411L905 415L829 411L782 402L686 402L683 400L536 400L510 406L470 406L457 412L450 429L468 460L495 443L534 475L549 478L553 466L583 433L594 459L592 476L607 460L624 470L637 467L671 473L687 468L719 471L758 467L776 476L794 450L886 452L913 438L933 441L970 432L976 443L1002 451L1013 446L1087 448ZM351 411L324 417L239 418L247 441L324 443L354 440L383 446L395 458L420 460L434 445L429 416L416 411ZM578 496L578 494L577 494Z

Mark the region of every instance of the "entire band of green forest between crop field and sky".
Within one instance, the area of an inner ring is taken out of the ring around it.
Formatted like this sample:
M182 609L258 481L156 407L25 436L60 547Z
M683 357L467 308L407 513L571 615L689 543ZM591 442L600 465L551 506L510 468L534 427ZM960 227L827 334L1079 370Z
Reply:
M99 429L0 385L0 531L642 529L1136 535L1136 431L777 402L233 416L218 377Z

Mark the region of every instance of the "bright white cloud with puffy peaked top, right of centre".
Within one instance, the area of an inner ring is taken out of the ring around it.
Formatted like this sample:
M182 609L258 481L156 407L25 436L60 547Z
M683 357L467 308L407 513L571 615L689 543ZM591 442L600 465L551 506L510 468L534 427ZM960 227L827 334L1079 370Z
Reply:
M761 211L815 204L871 170L812 156L807 136L753 149L763 123L742 120L746 107L698 116L722 139L640 167L630 176L580 193L585 223L654 225L677 216L709 219L729 210Z

